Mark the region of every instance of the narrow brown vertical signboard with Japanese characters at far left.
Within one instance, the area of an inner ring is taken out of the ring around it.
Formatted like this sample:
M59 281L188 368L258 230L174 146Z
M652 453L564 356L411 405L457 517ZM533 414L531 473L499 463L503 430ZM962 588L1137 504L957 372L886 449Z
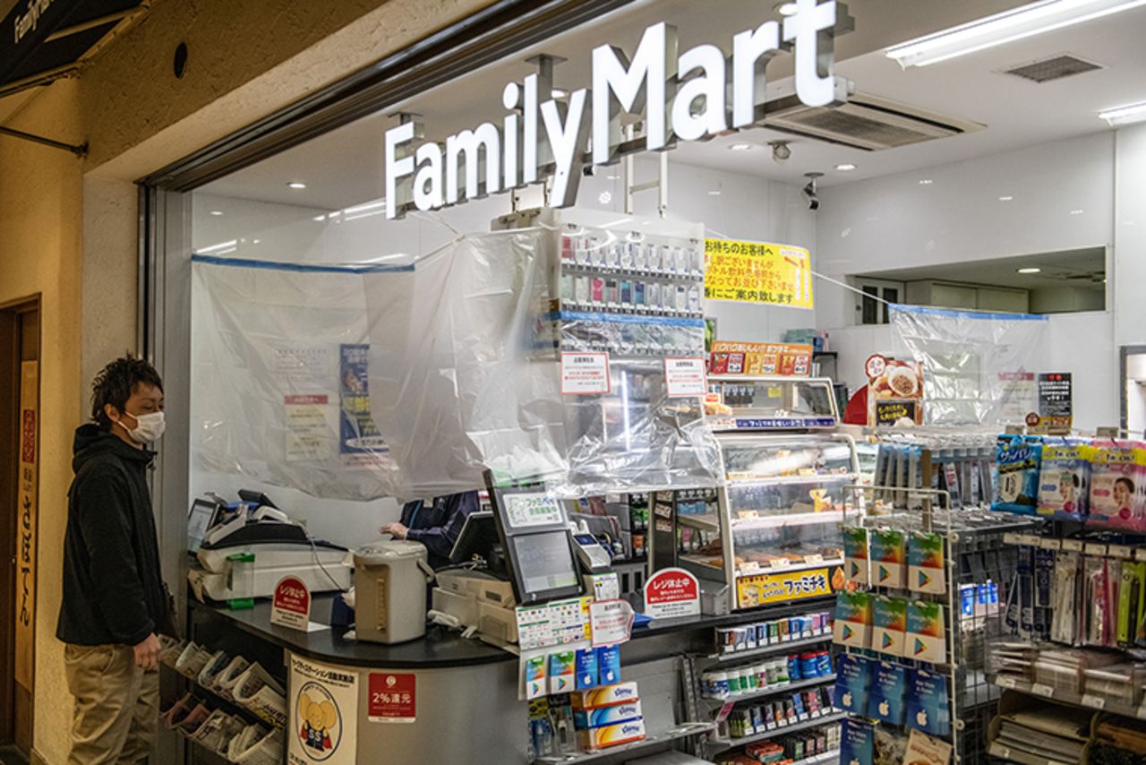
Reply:
M16 549L16 682L32 689L36 645L36 539L39 516L40 365L24 361L19 375L19 477Z

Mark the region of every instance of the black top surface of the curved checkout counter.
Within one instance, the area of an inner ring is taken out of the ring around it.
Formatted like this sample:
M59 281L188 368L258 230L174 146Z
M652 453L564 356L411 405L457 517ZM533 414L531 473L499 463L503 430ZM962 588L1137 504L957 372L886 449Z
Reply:
M315 622L329 622L335 595L319 593L313 596L311 616ZM807 614L814 609L832 610L834 596L814 598L782 606L763 607L749 611L733 611L724 616L684 616L673 619L653 619L633 630L633 640L674 632L732 626L754 620L783 618L795 614ZM517 661L517 655L495 648L478 639L462 638L461 633L442 626L426 627L419 640L409 640L393 646L347 640L344 627L330 627L317 632L299 632L270 624L270 602L259 601L253 609L230 610L226 607L201 603L189 599L191 608L203 609L218 617L229 619L238 629L257 638L268 640L292 653L315 661L332 662L354 666L386 669L440 669L471 664L493 664Z

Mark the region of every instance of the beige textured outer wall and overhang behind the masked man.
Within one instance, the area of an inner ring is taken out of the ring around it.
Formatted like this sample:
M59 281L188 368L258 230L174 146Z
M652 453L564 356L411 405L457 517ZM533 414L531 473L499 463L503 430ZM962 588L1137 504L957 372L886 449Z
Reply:
M63 763L68 751L71 697L54 634L72 430L83 421L91 376L135 346L133 181L486 5L156 0L79 79L42 88L3 118L10 127L91 143L81 161L0 136L0 304L42 297L38 760ZM186 76L175 79L180 41L190 56Z

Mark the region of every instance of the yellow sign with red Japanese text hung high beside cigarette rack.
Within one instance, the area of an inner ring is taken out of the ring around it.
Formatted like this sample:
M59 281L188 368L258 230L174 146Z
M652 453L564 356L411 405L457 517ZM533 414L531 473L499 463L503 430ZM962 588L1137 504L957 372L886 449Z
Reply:
M705 297L810 309L811 253L787 244L706 239Z

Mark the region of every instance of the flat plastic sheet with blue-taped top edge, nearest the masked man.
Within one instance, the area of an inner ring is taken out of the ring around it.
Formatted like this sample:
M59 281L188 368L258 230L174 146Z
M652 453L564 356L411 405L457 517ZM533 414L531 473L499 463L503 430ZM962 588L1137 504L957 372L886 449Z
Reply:
M328 499L394 493L370 419L362 271L195 257L195 469Z

